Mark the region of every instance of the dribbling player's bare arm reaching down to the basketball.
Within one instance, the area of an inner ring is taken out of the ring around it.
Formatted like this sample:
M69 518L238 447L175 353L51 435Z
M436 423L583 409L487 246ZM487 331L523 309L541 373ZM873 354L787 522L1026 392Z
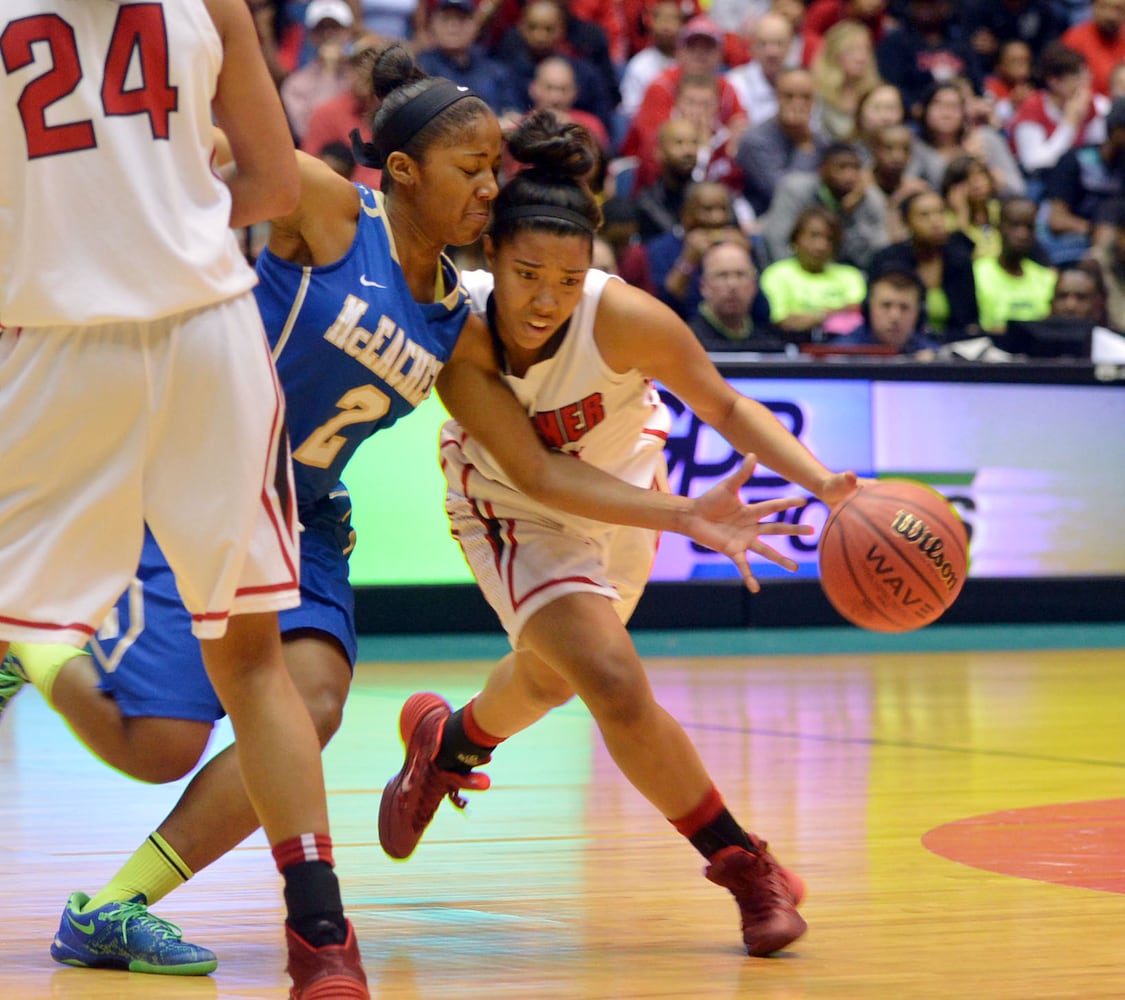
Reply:
M618 371L636 368L678 396L740 454L758 460L828 504L856 486L854 472L831 472L767 407L736 391L684 322L666 305L611 281L597 310L597 345Z

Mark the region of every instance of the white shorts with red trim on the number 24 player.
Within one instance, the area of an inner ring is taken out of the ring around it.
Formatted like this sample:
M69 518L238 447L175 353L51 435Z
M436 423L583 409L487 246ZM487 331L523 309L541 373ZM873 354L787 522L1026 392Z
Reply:
M284 400L253 295L0 333L0 637L83 645L147 522L199 638L299 603Z

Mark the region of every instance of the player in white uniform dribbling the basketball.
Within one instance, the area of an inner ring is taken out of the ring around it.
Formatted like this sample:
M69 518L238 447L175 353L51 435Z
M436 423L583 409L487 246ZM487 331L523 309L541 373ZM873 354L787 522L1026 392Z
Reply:
M526 483L502 470L520 468L538 436L577 467L594 463L660 488L668 425L652 387L658 380L736 450L756 453L828 504L857 480L854 472L830 472L766 407L735 391L669 309L591 270L600 211L580 180L593 162L580 128L539 114L508 145L528 169L502 188L493 208L485 237L493 292L486 295L480 276L470 285L504 380L523 407L496 399L470 411L460 404L476 382L467 377L448 385L443 398L459 420L444 430L442 461L453 533L513 652L457 712L434 694L407 700L399 718L406 760L384 790L379 839L392 857L407 857L442 798L464 805L460 790L488 786L475 766L577 694L626 776L708 859L708 879L734 894L748 953L768 955L804 933L796 911L803 883L726 808L687 735L655 701L626 630L655 532L641 521L637 528L595 523L613 520L596 504L583 512L590 521L554 514L525 496ZM799 502L749 510L767 517ZM776 522L758 528L760 534L804 533ZM759 539L750 548L795 568ZM756 591L745 557L739 566Z

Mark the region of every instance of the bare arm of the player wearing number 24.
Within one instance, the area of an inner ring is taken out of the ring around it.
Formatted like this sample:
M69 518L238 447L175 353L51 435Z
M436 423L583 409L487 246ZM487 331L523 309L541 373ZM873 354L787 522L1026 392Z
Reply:
M223 40L212 110L230 143L220 171L231 189L231 225L249 226L291 211L298 178L292 135L245 0L204 0Z

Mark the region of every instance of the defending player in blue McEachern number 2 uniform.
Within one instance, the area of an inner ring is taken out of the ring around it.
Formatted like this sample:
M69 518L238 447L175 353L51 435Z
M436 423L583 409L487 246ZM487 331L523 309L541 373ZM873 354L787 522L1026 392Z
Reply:
M285 654L325 742L339 726L356 656L343 466L431 385L441 391L447 371L474 372L472 391L459 398L488 405L498 393L515 405L487 360L487 327L466 318L465 296L442 256L443 246L471 242L487 222L500 159L496 119L466 91L417 75L399 47L378 56L372 80L384 101L374 123L377 139L363 152L384 170L382 192L352 186L302 157L300 205L274 220L259 261L259 305L287 394L305 529L303 603L281 620ZM543 502L596 506L614 520L681 531L727 552L744 570L745 549L763 530L762 511L745 507L737 495L749 466L698 501L626 486L547 448L518 475L534 484ZM91 643L92 657L18 648L19 665L9 661L7 677L0 676L7 685L0 699L10 700L22 673L99 756L129 774L169 780L197 763L217 710L207 706L205 685L188 679L196 676L190 658L177 652L177 598L154 550L140 576L132 602L122 602L117 620ZM150 613L153 620L140 618ZM181 678L176 703L145 691L153 670ZM200 769L110 883L78 906L155 903L253 831L256 820L244 799L234 758L225 751ZM56 957L93 964L65 928L66 915ZM127 942L115 947L112 961L129 958ZM163 957L147 971L177 971L174 963L161 967Z

